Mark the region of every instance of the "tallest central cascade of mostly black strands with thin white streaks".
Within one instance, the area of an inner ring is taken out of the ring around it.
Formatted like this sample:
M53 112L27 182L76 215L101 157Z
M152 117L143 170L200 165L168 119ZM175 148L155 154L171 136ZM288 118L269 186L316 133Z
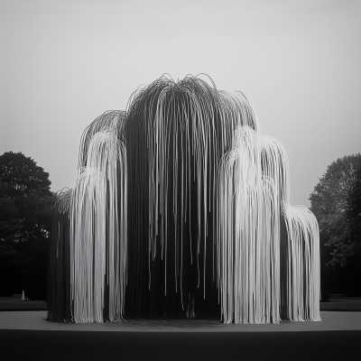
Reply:
M129 299L127 315L185 317L193 299L196 315L217 314L218 162L237 126L258 129L253 109L242 93L218 92L187 77L161 78L139 90L128 113L129 262L136 270L128 294L140 303Z

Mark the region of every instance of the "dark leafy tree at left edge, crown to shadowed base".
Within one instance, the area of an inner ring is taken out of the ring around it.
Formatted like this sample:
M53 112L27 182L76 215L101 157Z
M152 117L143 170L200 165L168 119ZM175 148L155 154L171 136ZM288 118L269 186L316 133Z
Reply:
M0 294L46 298L54 195L49 173L23 153L0 156Z

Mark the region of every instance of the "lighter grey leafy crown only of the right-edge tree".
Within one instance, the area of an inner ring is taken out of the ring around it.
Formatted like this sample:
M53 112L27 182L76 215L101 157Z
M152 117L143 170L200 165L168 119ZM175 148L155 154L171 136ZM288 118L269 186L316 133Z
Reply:
M361 192L357 182L360 162L360 153L338 158L329 165L310 194L311 210L318 218L319 231L327 236L327 245L333 247L329 262L332 265L345 266L347 261L357 256L354 234L356 229L359 230L361 216L356 215L360 203L357 204L355 197L359 197ZM350 233L352 227L354 236Z

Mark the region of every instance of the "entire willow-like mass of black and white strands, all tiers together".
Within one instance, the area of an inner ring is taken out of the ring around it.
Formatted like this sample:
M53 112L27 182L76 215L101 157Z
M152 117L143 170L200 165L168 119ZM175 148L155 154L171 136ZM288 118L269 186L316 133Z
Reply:
M162 77L81 137L59 194L48 319L319 320L319 229L240 92Z

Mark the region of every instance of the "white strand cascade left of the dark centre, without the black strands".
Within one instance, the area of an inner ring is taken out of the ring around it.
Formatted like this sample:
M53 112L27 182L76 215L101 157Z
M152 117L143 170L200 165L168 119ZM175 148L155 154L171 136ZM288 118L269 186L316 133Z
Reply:
M123 143L115 132L98 132L88 144L87 167L79 169L70 199L70 284L76 322L123 319L126 182Z

